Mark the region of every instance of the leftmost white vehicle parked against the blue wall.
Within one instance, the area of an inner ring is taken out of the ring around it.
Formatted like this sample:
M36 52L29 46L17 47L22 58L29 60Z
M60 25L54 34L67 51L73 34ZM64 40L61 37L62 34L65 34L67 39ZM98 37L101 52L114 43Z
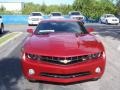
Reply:
M43 20L41 12L32 12L28 17L28 25L37 25L41 20Z

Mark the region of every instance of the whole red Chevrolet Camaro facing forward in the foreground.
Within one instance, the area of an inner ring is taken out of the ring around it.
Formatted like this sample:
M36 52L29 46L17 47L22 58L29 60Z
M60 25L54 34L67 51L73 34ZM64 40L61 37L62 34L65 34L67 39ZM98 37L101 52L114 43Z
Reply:
M22 70L28 80L73 83L101 78L105 50L77 20L43 20L22 48Z

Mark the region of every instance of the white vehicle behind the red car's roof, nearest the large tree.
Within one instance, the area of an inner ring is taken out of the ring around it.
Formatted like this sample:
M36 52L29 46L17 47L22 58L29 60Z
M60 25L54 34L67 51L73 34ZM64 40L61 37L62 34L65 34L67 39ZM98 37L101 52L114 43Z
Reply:
M85 16L83 16L79 11L71 11L68 13L71 19L80 20L83 24L85 23Z

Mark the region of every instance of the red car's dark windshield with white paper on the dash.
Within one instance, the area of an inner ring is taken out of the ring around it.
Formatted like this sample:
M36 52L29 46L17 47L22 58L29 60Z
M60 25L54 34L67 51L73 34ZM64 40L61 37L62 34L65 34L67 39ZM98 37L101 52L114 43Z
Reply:
M45 32L71 32L71 33L88 33L84 26L80 22L41 22L35 30L35 34L41 34Z

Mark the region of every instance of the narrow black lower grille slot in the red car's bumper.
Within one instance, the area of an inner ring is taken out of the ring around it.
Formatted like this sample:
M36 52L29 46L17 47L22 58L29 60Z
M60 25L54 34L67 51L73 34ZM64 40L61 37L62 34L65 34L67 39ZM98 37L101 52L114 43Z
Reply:
M90 75L90 72L80 72L80 73L74 73L74 74L54 74L54 73L41 73L40 76L45 77L52 77L52 78L75 78L75 77L81 77L81 76L87 76Z

